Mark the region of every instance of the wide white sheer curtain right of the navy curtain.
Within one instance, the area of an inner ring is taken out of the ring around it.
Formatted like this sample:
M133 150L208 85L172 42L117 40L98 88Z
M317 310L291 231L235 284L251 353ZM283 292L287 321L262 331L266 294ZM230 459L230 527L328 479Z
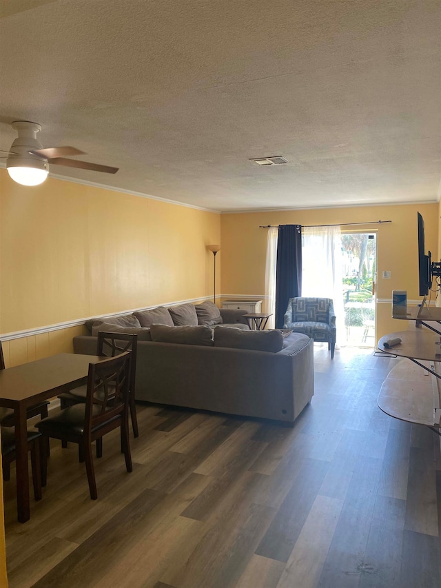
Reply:
M340 227L302 227L302 296L332 298L337 343L345 341Z

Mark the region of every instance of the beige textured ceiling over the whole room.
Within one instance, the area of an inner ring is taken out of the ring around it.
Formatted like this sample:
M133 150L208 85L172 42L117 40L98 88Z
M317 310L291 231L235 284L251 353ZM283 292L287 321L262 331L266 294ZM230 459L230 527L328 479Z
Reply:
M3 0L0 148L34 121L120 168L51 173L220 211L435 201L440 23L440 0Z

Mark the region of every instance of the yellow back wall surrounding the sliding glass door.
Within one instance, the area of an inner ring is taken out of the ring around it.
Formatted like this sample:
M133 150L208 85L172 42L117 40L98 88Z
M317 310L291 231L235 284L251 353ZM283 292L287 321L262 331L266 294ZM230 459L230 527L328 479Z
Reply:
M407 290L409 300L417 301L417 211L425 223L426 246L438 250L438 204L364 206L347 208L253 212L222 215L222 291L224 294L265 293L265 254L267 230L259 225L323 225L392 221L384 225L355 225L347 230L372 229L378 234L377 297L387 303L377 305L377 336L406 328L391 318L392 290ZM345 227L343 227L345 228ZM381 277L391 271L391 279Z

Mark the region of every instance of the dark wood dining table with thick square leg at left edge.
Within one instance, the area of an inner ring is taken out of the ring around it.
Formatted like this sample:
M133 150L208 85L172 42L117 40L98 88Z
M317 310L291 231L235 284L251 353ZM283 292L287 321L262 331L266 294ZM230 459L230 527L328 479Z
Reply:
M30 518L26 409L85 382L95 355L61 353L0 370L0 406L14 409L17 469L17 518Z

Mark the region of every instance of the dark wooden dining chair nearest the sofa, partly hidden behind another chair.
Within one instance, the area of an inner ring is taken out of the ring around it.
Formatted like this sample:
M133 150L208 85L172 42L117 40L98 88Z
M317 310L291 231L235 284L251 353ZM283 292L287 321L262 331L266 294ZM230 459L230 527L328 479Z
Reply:
M135 405L135 377L136 377L136 350L138 344L137 334L128 333L110 333L98 332L98 341L96 342L96 355L105 357L115 357L123 352L130 351L130 417L132 419L133 436L139 436L138 419L136 418ZM67 408L77 403L85 402L87 386L79 386L63 392L59 395L61 409ZM97 457L101 457L101 449L97 447Z

